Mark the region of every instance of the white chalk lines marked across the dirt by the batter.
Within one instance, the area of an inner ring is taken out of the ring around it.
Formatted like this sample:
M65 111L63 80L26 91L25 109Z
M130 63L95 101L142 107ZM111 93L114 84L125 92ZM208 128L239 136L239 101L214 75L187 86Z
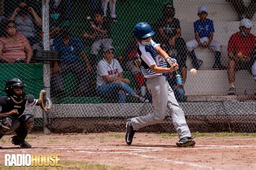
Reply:
M170 144L144 144L144 145L170 145ZM41 147L41 148L40 148ZM91 148L94 147L94 148ZM252 148L252 147L256 147L256 146L251 146L251 145L240 145L240 146L227 146L227 145L196 145L196 147L193 148L184 148L184 149L198 149L198 148L212 148L212 149L219 149L219 148ZM50 150L47 150L47 148L50 148ZM187 161L176 161L176 160L171 160L171 159L166 159L166 158L159 158L159 157L154 157L152 155L146 155L146 154L142 154L143 152L158 152L158 151L165 151L165 150L170 150L170 149L180 149L177 147L140 147L140 146L97 146L97 145L91 145L91 146L38 146L36 148L31 148L31 149L23 149L21 148L20 150L17 148L15 148L15 150L11 150L11 149L2 149L0 150L0 152L29 152L30 150L35 152L35 150L37 151L42 151L43 152L76 152L76 153L128 153L131 155L137 155L139 157L142 158L146 158L146 159L153 159L153 160L157 160L157 161L161 161L161 162L170 162L171 164L177 164L177 165L184 165L184 166L188 166L188 167L196 167L196 168L204 168L204 169L216 169L214 167L211 166L207 166L207 165L200 165L200 164L196 164L193 162L187 162ZM45 150L46 149L46 150ZM85 151L85 150L95 150L97 149L97 151ZM112 151L111 150L115 150ZM118 151L118 150L125 150L125 151Z

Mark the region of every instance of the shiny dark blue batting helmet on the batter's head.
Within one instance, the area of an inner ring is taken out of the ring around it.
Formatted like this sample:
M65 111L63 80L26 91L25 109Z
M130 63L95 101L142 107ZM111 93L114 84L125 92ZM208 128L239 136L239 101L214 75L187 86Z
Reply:
M134 26L134 36L139 39L146 39L154 35L154 31L147 23L137 23Z

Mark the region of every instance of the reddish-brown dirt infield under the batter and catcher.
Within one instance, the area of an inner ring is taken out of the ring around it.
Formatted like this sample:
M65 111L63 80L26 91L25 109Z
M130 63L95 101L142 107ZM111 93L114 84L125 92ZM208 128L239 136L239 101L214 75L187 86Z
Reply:
M62 169L84 169L85 164L107 169L256 169L255 134L199 135L193 148L178 148L176 134L136 133L131 146L124 133L29 134L32 148L17 148L10 135L0 141L0 164L4 154L60 154ZM79 166L67 162L78 161ZM89 168L90 169L90 168ZM93 168L95 169L95 167Z

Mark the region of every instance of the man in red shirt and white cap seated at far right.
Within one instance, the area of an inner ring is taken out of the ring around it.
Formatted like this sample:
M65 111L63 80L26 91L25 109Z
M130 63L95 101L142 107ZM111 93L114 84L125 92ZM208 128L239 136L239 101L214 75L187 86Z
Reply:
M236 95L234 86L235 72L239 69L251 69L256 44L256 37L250 33L251 28L251 20L242 19L239 26L240 31L234 33L228 41L227 52L230 58L227 69L227 77L230 82L228 95Z

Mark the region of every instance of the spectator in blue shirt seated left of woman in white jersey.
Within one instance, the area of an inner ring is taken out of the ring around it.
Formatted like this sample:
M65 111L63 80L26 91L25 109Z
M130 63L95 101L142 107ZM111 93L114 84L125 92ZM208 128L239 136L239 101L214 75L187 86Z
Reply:
M78 87L73 91L73 96L85 96L90 90L89 77L91 66L84 52L84 46L79 38L71 34L69 24L64 24L60 30L60 36L53 41L53 50L61 51L61 59L54 62L52 68L53 94L64 96L65 90L62 84L62 76L73 73L76 76ZM83 57L86 65L80 60Z

